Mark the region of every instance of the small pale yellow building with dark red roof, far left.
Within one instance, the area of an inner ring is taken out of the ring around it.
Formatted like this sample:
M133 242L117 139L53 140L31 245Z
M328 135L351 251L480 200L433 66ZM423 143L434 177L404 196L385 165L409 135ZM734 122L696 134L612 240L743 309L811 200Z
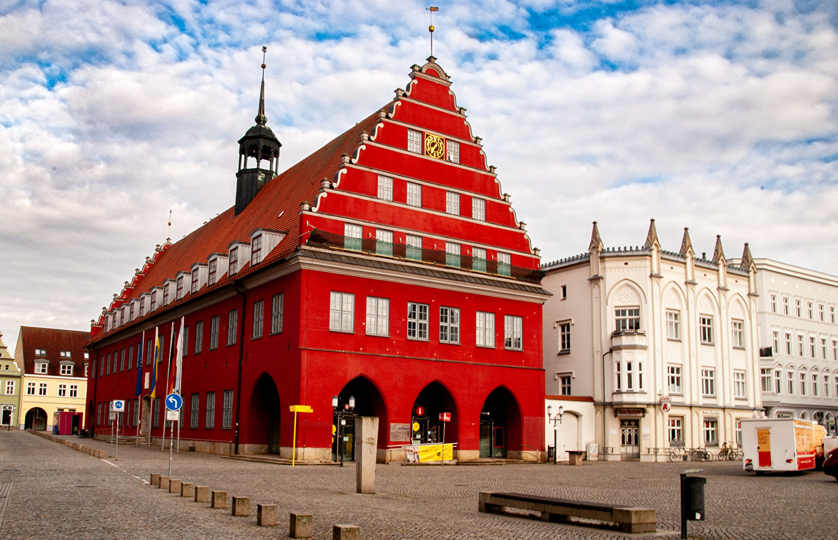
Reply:
M84 426L88 341L85 331L21 327L14 354L23 367L19 428L53 431L60 413L80 413L68 418L66 434Z

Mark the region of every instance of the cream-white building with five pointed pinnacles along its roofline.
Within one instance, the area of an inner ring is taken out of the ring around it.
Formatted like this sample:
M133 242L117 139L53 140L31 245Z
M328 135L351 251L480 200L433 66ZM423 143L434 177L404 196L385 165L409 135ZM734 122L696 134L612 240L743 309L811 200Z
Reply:
M543 311L545 407L564 408L565 446L596 442L601 460L668 460L676 441L737 442L738 421L762 408L747 244L729 264L716 237L707 260L685 229L680 251L668 252L652 220L643 247L604 248L594 222L587 253L543 269L553 293Z

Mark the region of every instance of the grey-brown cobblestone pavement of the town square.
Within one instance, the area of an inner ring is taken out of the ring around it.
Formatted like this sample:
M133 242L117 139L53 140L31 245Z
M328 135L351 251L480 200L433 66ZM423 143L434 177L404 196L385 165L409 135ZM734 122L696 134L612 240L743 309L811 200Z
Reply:
M80 440L80 439L75 439ZM85 444L108 449L89 439ZM354 494L354 467L268 465L208 454L175 454L173 477L230 496L250 496L251 516L232 517L160 491L149 474L168 472L168 449L121 445L119 459L98 460L27 432L0 432L0 496L8 505L3 538L287 538L289 511L314 515L314 537L333 523L355 523L365 538L679 537L678 473L685 464L592 462L569 465L403 467L378 465L373 496ZM746 475L737 463L689 464L707 478L706 522L691 537L754 540L838 537L838 482L822 473ZM10 486L9 486L10 485ZM480 514L479 491L522 491L583 501L647 506L657 536L525 517ZM256 504L277 504L280 525L256 526ZM660 531L668 531L661 533Z

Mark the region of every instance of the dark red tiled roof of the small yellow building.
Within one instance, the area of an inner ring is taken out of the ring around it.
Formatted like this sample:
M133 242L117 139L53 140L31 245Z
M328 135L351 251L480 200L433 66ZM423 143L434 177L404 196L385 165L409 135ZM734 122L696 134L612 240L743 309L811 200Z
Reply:
M35 361L45 358L49 363L47 375L60 375L59 361L70 360L75 365L73 375L84 376L85 363L89 362L85 359L85 345L90 340L91 333L81 330L21 326L14 357L24 373L34 374ZM46 356L35 356L35 349L46 350ZM69 350L70 357L61 356L62 350Z

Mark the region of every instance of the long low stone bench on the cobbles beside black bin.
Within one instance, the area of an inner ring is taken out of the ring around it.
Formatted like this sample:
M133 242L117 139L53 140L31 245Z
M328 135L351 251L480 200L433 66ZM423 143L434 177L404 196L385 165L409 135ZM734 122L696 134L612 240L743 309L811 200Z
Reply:
M623 532L655 532L657 529L654 509L651 508L571 501L525 493L480 492L479 511L503 511L504 506L541 512L542 522L568 521L567 518L570 517L582 517L617 523Z

